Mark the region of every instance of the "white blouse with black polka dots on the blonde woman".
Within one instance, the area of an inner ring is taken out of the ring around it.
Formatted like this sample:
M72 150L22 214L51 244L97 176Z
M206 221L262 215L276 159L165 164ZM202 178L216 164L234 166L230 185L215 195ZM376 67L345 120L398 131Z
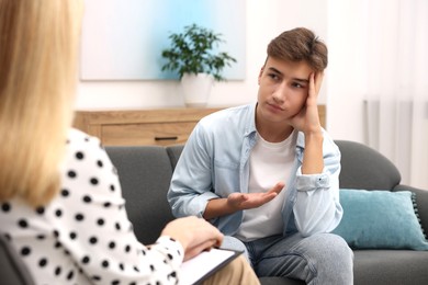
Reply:
M94 137L71 129L61 190L45 207L2 202L1 235L36 284L177 284L180 243L136 240L116 171Z

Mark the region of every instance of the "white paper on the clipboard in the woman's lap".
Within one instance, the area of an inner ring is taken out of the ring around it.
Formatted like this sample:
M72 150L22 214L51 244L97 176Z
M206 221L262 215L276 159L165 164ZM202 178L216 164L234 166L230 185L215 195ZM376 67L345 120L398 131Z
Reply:
M203 251L181 264L180 285L202 284L243 252L225 249Z

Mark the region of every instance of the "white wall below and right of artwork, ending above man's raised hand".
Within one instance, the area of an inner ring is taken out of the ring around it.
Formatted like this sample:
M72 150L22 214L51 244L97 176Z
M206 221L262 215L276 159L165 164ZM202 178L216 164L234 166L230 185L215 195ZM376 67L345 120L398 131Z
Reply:
M266 59L266 47L282 31L307 26L326 39L327 0L248 0L246 9L246 80L217 82L209 106L238 105L257 99L257 77ZM326 102L326 90L325 84L322 103ZM183 106L180 92L178 81L80 81L77 110Z

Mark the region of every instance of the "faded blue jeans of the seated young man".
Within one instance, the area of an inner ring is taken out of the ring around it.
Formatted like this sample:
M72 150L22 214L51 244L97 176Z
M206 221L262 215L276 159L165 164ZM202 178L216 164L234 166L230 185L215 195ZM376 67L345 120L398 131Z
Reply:
M222 248L244 251L259 277L285 276L311 285L353 284L353 253L337 235L304 238L294 233L250 242L225 237Z

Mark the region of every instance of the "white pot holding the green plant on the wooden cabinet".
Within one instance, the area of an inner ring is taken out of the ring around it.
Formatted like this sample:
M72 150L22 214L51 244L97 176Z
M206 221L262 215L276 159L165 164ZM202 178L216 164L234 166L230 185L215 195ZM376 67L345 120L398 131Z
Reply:
M184 73L181 78L184 104L188 107L206 106L214 83L214 77L207 73Z

